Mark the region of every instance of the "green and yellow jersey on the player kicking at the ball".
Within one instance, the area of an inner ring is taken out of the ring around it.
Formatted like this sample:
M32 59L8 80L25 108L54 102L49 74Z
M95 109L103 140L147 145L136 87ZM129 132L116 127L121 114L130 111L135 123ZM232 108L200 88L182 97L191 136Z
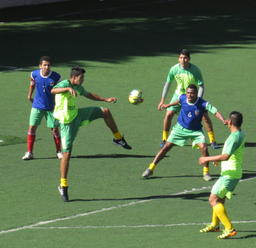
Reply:
M68 79L59 82L53 88L73 88L76 90L77 95L86 96L89 94L87 90L81 85L73 86ZM78 109L76 107L77 98L71 96L70 92L64 92L55 95L55 108L53 116L62 124L68 124L77 117Z

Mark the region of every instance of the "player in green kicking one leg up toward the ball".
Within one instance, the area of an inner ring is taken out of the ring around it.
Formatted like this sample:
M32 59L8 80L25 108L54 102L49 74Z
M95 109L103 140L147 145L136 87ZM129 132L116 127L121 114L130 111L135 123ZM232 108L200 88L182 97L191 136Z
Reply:
M115 103L117 101L114 97L104 98L85 90L82 86L84 77L85 69L73 67L71 69L70 79L61 81L52 89L52 94L56 94L54 117L59 120L61 127L63 159L61 160L61 184L59 191L64 202L69 201L67 180L69 161L73 142L80 126L85 126L96 119L103 118L106 126L108 126L113 133L113 144L131 150L126 140L121 136L109 109L98 107L77 109L76 102L77 96L79 95L85 96L93 101L104 101L108 103Z

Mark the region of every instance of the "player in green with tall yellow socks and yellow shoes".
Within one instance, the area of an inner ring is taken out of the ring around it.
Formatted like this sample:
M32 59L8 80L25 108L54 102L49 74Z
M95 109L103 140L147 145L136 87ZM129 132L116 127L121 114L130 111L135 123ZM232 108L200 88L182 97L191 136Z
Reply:
M242 177L242 158L244 153L245 135L241 130L243 115L233 111L229 115L228 128L231 134L227 138L222 154L216 156L202 157L200 164L212 161L221 162L221 175L213 185L209 197L213 209L212 222L200 230L200 233L219 232L220 221L225 226L222 235L218 238L229 238L236 235L236 230L231 224L225 208L225 199L232 199L233 191Z

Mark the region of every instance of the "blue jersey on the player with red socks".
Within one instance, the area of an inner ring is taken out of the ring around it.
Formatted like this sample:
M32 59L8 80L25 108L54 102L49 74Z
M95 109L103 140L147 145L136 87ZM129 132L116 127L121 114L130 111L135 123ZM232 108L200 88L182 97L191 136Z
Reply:
M31 85L36 85L36 94L32 107L39 110L54 110L55 97L52 88L61 80L61 76L50 71L49 75L42 76L41 70L31 72Z

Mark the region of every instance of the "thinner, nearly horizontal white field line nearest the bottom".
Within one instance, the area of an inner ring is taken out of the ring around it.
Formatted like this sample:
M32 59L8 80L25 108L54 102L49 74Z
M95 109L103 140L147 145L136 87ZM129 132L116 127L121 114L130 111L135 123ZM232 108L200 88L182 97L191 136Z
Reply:
M231 221L235 224L240 223L255 223L256 220L240 220L240 221ZM172 227L172 226L194 226L194 225L207 225L210 223L178 223L178 224L155 224L155 225L137 225L137 226L80 226L80 227L31 227L31 229L86 229L86 228L120 228L120 227L126 227L126 228L134 228L134 227Z

